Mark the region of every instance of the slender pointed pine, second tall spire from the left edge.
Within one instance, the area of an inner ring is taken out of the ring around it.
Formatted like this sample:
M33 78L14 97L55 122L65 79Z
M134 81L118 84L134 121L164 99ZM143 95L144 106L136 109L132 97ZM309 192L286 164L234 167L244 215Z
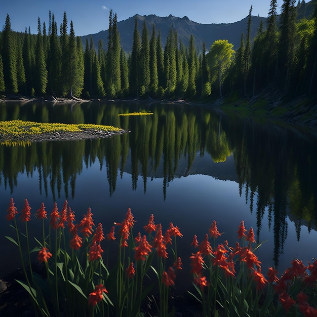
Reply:
M35 51L35 92L38 95L46 93L48 82L48 71L46 68L46 61L43 50L43 37L41 32L41 20L37 20L37 37L36 37L36 51Z

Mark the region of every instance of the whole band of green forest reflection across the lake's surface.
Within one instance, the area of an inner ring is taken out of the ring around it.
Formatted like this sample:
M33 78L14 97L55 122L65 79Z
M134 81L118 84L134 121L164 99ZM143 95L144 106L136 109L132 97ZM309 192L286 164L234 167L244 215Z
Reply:
M118 116L132 111L153 115ZM233 155L240 195L256 213L257 235L267 210L274 232L274 263L278 265L287 236L287 216L296 224L316 228L316 137L304 130L241 120L236 115L188 105L161 103L83 103L1 105L0 120L94 123L131 130L110 139L52 141L29 146L0 146L0 186L14 192L19 173L38 172L39 193L54 199L75 197L76 177L96 162L106 169L109 195L118 177L131 174L132 189L139 177L146 192L150 179L162 178L164 199L169 183L192 173L197 156L225 162ZM186 167L180 169L180 162ZM212 175L211 175L212 176ZM258 239L259 240L259 239Z

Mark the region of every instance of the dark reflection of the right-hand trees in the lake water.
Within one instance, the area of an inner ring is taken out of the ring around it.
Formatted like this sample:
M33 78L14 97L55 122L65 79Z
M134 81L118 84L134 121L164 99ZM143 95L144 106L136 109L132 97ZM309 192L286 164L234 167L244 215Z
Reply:
M274 232L274 262L278 265L287 237L287 215L295 219L298 239L301 219L308 226L313 222L316 225L316 186L312 181L317 174L313 160L309 159L317 154L311 148L313 142L290 129L230 117L226 118L223 129L234 148L240 195L245 188L251 213L257 193L258 240L267 210L269 228L273 226Z

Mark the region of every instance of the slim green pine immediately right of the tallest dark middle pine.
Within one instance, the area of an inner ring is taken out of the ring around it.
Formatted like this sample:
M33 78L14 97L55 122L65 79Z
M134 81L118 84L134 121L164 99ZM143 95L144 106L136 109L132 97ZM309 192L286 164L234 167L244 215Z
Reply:
M141 36L140 49L140 87L142 93L147 93L150 84L150 47L148 42L148 30L144 21Z

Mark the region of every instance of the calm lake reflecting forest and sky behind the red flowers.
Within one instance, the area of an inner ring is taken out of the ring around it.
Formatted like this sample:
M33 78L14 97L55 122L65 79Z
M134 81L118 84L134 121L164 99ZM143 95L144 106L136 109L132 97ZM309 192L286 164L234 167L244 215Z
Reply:
M118 116L146 111L153 115ZM18 211L27 199L32 213L48 213L65 199L79 221L90 207L107 233L130 207L135 234L152 213L184 235L178 240L189 274L193 235L202 242L213 222L219 243L235 246L241 220L253 227L263 272L282 272L290 262L317 257L316 132L285 123L240 118L186 104L89 102L0 103L0 120L92 123L129 129L108 139L0 145L0 278L19 266L5 220L10 199ZM32 219L29 234L37 235ZM143 234L143 233L142 233ZM186 275L186 276L187 276ZM185 275L184 275L185 276Z

